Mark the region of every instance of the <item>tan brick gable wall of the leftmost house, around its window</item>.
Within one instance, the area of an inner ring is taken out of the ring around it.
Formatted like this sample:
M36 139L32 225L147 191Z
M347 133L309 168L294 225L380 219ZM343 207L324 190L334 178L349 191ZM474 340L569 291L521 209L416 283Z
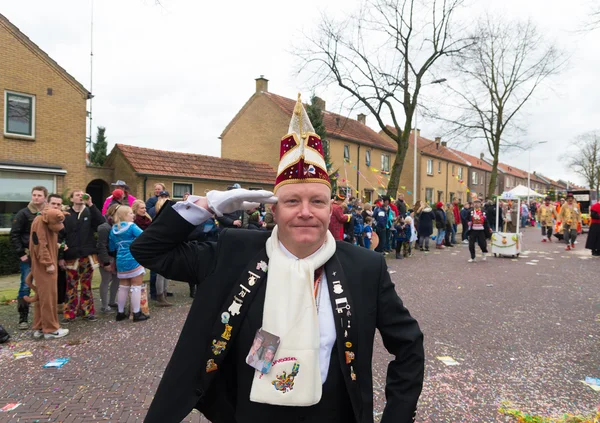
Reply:
M85 95L2 25L0 57L0 161L60 166L68 173L58 191L84 186ZM4 135L6 90L35 96L34 139Z

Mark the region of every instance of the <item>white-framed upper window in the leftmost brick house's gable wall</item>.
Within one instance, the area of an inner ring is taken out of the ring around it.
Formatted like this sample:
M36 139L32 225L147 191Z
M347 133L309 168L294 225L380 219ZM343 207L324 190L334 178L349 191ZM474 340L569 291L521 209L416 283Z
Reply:
M35 96L6 91L4 104L4 133L35 137Z

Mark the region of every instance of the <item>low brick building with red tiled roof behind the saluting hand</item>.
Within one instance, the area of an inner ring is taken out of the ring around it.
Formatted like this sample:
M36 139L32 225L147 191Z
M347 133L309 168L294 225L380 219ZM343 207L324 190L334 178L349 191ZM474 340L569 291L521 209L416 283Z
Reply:
M171 198L185 192L204 195L209 190L226 190L234 183L242 188L272 190L276 172L267 163L222 159L200 154L177 153L116 144L105 166L114 168L118 179L127 182L139 199L154 195L154 184L163 183Z

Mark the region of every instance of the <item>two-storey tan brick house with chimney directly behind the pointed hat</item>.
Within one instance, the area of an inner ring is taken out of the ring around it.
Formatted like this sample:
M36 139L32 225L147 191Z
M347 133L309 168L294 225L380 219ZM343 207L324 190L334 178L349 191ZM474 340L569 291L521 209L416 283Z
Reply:
M364 114L350 119L328 111L319 101L338 188L374 201L386 191L395 143L369 128ZM279 142L288 131L295 104L296 100L270 93L268 80L257 78L255 93L221 134L221 157L261 161L277 169Z

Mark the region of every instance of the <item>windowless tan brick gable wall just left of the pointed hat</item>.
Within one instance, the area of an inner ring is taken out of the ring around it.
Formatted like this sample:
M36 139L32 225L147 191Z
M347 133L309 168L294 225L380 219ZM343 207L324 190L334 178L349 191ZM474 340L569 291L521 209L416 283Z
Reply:
M266 95L255 94L250 101L222 136L221 157L268 163L277 169L280 141L291 116L285 116Z

